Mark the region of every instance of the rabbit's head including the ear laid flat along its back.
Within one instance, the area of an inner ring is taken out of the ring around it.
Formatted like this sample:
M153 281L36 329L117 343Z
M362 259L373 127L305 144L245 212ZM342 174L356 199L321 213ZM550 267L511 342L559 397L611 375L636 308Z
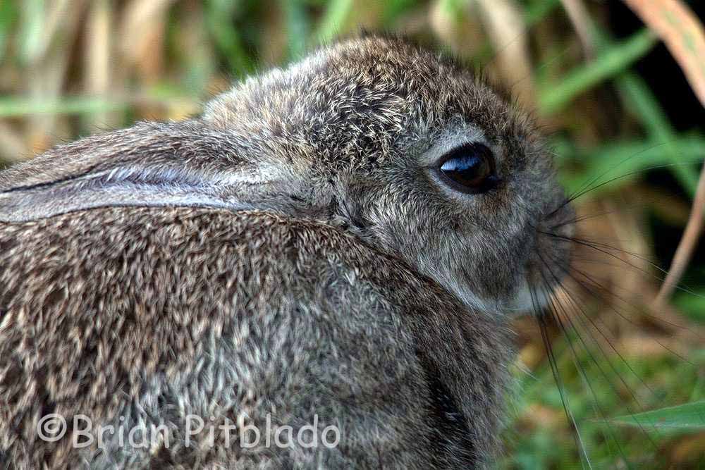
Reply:
M90 137L0 178L4 221L172 204L328 221L488 314L541 302L532 288L568 263L539 237L570 207L532 121L400 39L323 48L199 118Z

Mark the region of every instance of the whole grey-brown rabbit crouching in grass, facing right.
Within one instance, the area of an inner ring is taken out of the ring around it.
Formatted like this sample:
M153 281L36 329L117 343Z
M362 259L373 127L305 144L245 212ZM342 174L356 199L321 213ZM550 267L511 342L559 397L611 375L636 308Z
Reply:
M529 115L398 37L51 149L0 173L0 461L491 466L571 214Z

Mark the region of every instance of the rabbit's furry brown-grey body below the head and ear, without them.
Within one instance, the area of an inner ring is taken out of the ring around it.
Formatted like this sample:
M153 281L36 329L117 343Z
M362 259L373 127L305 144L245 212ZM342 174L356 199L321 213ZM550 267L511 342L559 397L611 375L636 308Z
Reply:
M469 413L500 399L491 326L331 225L264 211L91 209L0 225L0 248L0 439L20 460L68 455L57 452L66 439L33 432L49 413L96 426L166 421L182 443L168 458L206 462L183 446L188 415L244 414L264 427L275 409L281 424L317 415L341 428L345 447L307 450L331 464L377 462L368 444L379 434L390 463L424 462L419 436L432 458L486 454L495 414ZM104 445L105 463L152 458ZM262 452L293 462L289 450Z

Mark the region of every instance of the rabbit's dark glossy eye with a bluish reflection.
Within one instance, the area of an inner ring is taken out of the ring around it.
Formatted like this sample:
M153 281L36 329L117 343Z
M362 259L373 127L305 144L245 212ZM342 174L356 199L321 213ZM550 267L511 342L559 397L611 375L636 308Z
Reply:
M450 187L470 194L489 191L499 180L492 151L477 143L463 145L443 156L439 173Z

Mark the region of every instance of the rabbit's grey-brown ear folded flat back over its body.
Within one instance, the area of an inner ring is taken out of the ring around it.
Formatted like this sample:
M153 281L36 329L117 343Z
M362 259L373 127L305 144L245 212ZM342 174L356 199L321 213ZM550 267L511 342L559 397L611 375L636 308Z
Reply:
M202 120L140 123L0 173L0 221L104 206L298 211L296 202L310 200L300 194L307 185L291 168L245 158L260 152L264 149Z

